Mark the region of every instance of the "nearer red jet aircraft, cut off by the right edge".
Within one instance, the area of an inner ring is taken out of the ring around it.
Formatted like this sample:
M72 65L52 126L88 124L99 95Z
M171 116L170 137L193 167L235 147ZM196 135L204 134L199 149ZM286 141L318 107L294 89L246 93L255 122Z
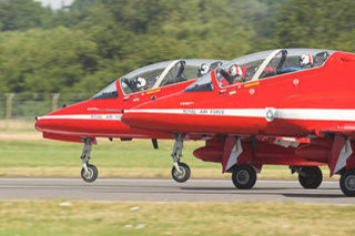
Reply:
M183 137L211 137L194 155L222 163L237 188L252 188L265 164L288 165L303 187L316 188L323 178L318 166L328 165L331 175L341 174L343 193L355 196L354 72L352 53L258 52L223 64L184 91L124 110L122 122L174 134L178 166Z

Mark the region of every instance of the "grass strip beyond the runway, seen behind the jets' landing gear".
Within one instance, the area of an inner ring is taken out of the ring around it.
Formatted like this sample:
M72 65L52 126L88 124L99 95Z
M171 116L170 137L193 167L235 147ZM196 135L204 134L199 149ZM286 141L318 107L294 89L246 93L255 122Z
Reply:
M172 141L160 141L153 150L150 141L109 142L99 140L92 150L91 163L99 167L100 177L170 177ZM192 168L192 177L226 177L221 164L193 157L203 142L185 142L183 162ZM82 145L48 140L1 140L0 176L79 177ZM325 178L328 170L323 168ZM264 166L258 178L296 179L287 166ZM335 177L336 179L336 177Z

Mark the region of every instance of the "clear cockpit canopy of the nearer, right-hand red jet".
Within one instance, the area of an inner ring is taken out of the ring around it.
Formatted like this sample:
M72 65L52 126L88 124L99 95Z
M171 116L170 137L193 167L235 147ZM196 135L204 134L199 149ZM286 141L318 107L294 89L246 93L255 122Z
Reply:
M321 49L277 49L247 54L222 64L215 70L221 88L257 81L280 74L322 66L334 51ZM241 73L233 74L235 66ZM185 92L212 91L211 73L185 89Z

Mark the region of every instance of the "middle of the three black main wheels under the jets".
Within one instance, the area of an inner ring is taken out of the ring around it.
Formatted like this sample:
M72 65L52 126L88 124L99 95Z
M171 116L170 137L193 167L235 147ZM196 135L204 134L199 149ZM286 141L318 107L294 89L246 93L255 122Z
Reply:
M304 166L300 171L304 174L298 174L298 182L303 188L316 189L320 187L323 174L318 166Z

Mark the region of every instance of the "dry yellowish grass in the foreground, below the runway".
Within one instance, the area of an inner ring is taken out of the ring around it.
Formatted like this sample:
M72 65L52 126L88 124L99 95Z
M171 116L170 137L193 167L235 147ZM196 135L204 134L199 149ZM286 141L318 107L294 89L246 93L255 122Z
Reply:
M0 201L0 235L355 235L355 206Z

